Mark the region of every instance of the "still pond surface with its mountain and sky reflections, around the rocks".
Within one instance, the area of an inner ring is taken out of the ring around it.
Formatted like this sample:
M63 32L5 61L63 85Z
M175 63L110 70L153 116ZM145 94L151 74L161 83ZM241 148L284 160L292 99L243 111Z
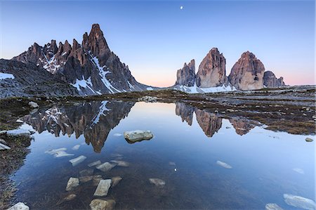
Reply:
M183 103L98 101L42 108L22 120L36 133L12 179L17 202L31 209L89 209L93 181L65 191L84 169L103 179L121 176L107 195L115 209L264 209L268 203L296 209L284 194L315 200L315 143L242 117L223 119ZM154 138L126 142L124 131L136 129ZM46 152L60 147L73 155ZM84 162L72 166L69 160L80 155ZM130 165L107 172L88 167L113 159ZM157 187L149 178L166 184ZM63 201L70 194L77 197Z

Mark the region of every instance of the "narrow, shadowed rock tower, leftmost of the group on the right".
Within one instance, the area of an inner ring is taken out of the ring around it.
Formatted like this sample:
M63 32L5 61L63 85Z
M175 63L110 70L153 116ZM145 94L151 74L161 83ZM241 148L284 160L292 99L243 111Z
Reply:
M195 60L187 65L184 64L183 68L177 71L176 85L194 86L195 85Z

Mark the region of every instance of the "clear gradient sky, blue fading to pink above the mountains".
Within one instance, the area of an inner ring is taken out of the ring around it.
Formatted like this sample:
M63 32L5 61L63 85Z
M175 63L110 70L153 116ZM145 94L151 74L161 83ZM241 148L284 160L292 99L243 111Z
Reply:
M180 6L183 9L180 10ZM315 1L3 1L0 58L34 42L82 41L99 23L107 44L144 84L171 86L212 47L226 74L251 51L287 84L315 84Z

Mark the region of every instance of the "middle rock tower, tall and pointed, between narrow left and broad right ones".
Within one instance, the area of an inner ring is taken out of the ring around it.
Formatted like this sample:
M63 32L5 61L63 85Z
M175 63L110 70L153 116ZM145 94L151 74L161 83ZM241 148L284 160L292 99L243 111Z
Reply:
M218 48L212 48L199 65L197 72L197 86L210 88L216 86L228 86L226 77L226 60Z

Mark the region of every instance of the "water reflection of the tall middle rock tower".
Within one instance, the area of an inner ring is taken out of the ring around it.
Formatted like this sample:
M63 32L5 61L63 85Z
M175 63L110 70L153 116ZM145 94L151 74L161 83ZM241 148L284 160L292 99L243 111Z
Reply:
M222 118L216 114L199 109L195 109L195 114L197 115L197 123L208 137L212 137L222 126Z

